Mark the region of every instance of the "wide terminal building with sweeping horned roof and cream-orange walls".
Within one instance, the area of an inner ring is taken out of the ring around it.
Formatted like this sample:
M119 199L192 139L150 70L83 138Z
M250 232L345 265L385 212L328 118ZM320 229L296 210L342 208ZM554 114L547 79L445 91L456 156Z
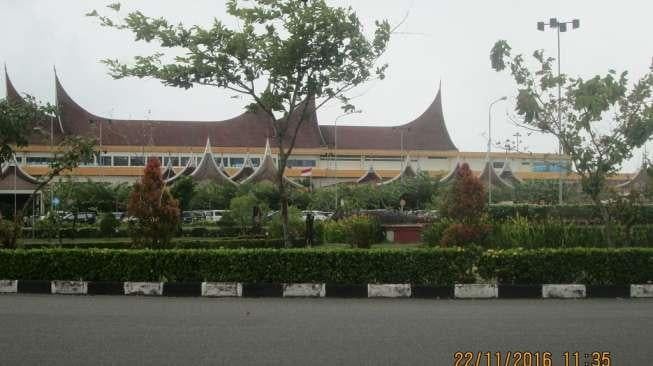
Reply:
M7 98L22 100L5 70ZM271 119L263 112L245 112L223 121L123 120L99 116L75 102L55 75L58 117L42 122L41 136L16 154L16 164L28 176L45 174L52 146L66 135L95 137L99 153L94 161L70 173L75 179L108 182L134 181L145 162L158 157L169 174L197 167L209 152L226 176L234 176L251 165L256 170L265 158L266 143L275 160ZM286 176L293 180L310 171L316 187L335 182L357 182L370 172L381 180L396 177L407 166L433 176L446 177L461 162L478 174L489 174L485 152L463 152L456 148L445 124L442 90L413 120L393 127L320 125L314 101L299 128ZM312 109L312 110L311 110ZM291 117L292 121L297 118ZM208 147L207 147L208 142ZM519 180L557 179L559 156L536 153L493 153L493 173L506 171ZM494 175L494 174L493 174Z

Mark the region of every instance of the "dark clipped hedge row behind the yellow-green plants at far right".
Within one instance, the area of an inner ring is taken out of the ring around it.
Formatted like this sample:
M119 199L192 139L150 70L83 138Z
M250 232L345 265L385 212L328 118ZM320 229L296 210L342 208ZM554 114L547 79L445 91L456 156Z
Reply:
M635 207L633 223L647 224L653 222L653 205ZM619 216L619 213L615 213ZM601 214L594 205L490 205L489 216L492 221L504 221L514 217L523 217L532 221L563 220L576 222L600 222Z

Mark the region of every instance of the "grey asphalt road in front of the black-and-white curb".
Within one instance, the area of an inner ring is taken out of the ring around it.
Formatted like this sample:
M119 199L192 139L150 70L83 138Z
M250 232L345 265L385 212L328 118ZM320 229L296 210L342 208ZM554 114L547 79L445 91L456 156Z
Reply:
M652 330L653 300L1 295L0 365L453 365L457 351L651 365Z

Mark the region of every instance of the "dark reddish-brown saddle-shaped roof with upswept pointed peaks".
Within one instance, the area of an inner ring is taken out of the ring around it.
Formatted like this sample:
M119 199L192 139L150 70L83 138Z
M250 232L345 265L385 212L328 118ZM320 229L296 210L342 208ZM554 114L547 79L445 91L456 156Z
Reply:
M56 133L95 136L102 129L103 145L203 146L207 138L220 147L264 147L274 142L271 119L262 111L245 112L223 121L158 121L110 119L95 115L77 104L55 75L56 104L60 123ZM7 95L20 98L7 77ZM299 129L295 147L333 146L334 127L319 126L315 100L308 100L308 119ZM298 108L296 110L299 114ZM293 129L299 118L291 118ZM338 148L400 150L401 135L406 150L457 150L444 123L441 93L415 120L394 127L338 126Z

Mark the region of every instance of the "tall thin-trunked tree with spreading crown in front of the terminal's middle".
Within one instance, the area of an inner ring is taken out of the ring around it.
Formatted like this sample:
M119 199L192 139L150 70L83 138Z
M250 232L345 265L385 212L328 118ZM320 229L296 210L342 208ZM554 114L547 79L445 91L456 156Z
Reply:
M109 7L120 10L119 4ZM387 65L378 65L378 59L392 30L387 21L377 21L374 36L368 38L353 9L331 7L325 0L228 0L227 13L237 18L238 29L217 19L208 28L173 25L139 11L118 21L97 11L87 15L169 51L138 56L132 64L104 60L114 78L152 77L186 89L225 88L248 97L250 111L269 117L278 149L283 238L290 246L283 174L300 127L315 112L308 101L315 99L319 109L336 99L345 111L354 110L348 92L372 78L384 78Z

